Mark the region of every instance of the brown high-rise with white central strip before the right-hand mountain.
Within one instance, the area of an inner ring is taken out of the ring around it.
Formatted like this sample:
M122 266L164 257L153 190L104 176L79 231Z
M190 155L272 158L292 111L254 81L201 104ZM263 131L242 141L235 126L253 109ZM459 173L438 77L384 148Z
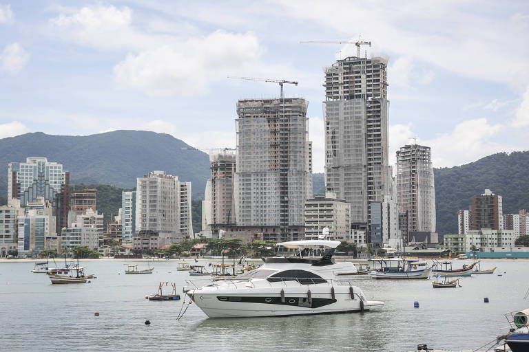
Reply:
M492 230L504 230L504 211L501 195L495 195L486 189L481 195L472 197L472 228L481 230L490 228Z

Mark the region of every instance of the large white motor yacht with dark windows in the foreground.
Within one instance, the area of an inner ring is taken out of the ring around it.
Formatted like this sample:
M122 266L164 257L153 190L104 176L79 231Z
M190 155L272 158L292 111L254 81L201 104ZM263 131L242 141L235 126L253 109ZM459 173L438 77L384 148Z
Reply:
M263 259L261 267L233 280L201 287L187 281L184 292L209 318L345 313L384 305L366 300L353 280L337 278L356 271L353 263L335 263L338 245L326 240L278 243L295 252Z

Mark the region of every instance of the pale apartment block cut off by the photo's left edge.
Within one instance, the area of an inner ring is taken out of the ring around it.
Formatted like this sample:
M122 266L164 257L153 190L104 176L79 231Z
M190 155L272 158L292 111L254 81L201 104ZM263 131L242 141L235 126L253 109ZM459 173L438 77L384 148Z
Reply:
M24 209L20 201L14 199L10 206L0 206L0 257L14 255L18 249L18 217L23 217Z

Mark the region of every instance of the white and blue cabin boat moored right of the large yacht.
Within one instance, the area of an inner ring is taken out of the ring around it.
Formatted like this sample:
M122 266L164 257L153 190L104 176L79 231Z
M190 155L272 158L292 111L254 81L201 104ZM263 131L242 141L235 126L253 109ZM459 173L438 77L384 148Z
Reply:
M380 267L373 270L372 278L428 278L432 272L432 267L428 266L422 259L371 259L380 264Z

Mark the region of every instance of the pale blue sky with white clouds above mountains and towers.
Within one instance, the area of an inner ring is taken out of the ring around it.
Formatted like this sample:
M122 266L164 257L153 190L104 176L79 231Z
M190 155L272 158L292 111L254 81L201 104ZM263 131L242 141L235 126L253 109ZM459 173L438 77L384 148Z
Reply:
M324 170L323 67L387 56L390 163L414 141L434 167L529 150L528 1L0 0L0 138L170 133L236 146L236 103L309 101Z

